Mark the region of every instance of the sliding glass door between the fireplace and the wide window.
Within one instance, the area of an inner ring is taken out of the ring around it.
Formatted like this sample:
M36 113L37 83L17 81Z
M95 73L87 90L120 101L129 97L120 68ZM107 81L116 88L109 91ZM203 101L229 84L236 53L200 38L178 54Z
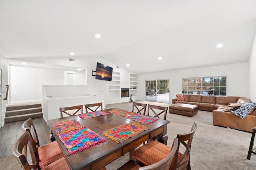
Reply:
M146 81L146 101L169 103L169 80Z

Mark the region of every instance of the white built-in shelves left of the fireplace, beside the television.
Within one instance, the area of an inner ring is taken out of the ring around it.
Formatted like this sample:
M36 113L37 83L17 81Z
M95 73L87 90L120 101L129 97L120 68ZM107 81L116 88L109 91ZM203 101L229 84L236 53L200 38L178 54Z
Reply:
M109 96L110 98L120 98L120 72L112 72L112 81L109 82Z

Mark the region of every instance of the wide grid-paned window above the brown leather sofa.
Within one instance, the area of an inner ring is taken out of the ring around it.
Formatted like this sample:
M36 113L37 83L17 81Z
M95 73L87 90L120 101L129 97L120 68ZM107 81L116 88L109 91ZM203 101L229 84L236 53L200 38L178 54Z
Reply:
M226 96L226 77L182 78L183 94Z

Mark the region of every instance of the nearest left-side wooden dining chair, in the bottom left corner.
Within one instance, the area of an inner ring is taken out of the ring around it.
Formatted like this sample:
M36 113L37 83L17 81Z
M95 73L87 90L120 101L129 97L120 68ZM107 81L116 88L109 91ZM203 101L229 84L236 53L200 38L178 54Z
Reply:
M28 152L29 149L29 152ZM24 154L22 153L24 150ZM42 169L41 168L41 161L38 156L38 152L36 149L36 145L34 143L34 139L30 134L30 131L24 132L21 137L16 141L12 148L12 152L16 159L18 160L19 164L21 165L23 170L35 170L35 169ZM28 153L30 155L28 155ZM31 158L31 161L28 161ZM31 162L30 164L28 162ZM62 157L51 164L48 164L43 170L54 170L54 169L61 169L61 170L69 170L68 163L66 162L65 158Z

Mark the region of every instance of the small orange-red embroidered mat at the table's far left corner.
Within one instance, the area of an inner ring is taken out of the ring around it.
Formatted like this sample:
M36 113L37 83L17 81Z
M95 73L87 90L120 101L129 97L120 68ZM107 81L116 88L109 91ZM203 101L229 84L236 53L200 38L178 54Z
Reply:
M81 125L75 119L55 122L55 123L52 123L52 126L56 130L57 134L69 132L75 129L78 130L78 129L85 128L84 125Z

